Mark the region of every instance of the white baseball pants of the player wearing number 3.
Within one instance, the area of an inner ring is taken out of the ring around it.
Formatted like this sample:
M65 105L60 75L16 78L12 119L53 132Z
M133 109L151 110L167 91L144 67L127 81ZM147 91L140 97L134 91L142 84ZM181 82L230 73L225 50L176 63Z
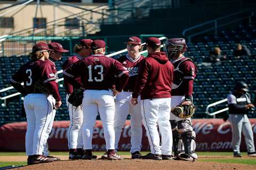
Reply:
M46 94L28 94L24 98L27 117L26 155L43 155L44 145L49 134L47 129L51 123L53 100Z

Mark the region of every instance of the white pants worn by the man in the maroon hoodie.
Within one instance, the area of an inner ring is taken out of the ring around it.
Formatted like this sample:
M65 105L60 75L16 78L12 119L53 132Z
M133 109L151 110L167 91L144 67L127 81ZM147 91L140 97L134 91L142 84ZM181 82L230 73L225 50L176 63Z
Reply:
M141 100L142 121L147 131L152 154L172 155L172 129L170 120L171 98ZM160 146L157 124L161 133Z

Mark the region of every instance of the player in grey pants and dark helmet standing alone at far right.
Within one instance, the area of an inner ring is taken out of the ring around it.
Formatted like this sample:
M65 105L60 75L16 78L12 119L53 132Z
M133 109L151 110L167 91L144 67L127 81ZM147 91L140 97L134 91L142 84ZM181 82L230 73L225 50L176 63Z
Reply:
M242 157L240 153L241 132L243 132L245 137L248 156L256 157L252 126L246 115L250 109L254 108L248 91L247 84L243 81L238 81L233 92L228 95L228 120L231 123L233 132L232 147L234 157Z

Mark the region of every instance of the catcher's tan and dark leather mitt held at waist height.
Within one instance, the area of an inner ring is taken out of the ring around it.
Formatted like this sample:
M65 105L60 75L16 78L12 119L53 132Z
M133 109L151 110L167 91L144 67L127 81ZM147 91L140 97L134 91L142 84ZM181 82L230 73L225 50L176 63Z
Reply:
M189 118L194 115L194 113L196 112L196 109L197 107L194 104L190 104L190 105L180 104L172 108L171 112L177 117Z

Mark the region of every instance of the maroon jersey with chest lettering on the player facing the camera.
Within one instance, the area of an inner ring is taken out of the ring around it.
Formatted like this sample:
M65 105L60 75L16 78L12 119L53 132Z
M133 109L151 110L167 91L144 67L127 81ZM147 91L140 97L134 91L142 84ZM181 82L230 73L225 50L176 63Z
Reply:
M129 71L129 80L124 87L124 91L132 91L135 86L136 78L139 74L139 62L145 58L143 55L139 55L137 58L132 59L128 54L117 59L118 62L122 63Z

